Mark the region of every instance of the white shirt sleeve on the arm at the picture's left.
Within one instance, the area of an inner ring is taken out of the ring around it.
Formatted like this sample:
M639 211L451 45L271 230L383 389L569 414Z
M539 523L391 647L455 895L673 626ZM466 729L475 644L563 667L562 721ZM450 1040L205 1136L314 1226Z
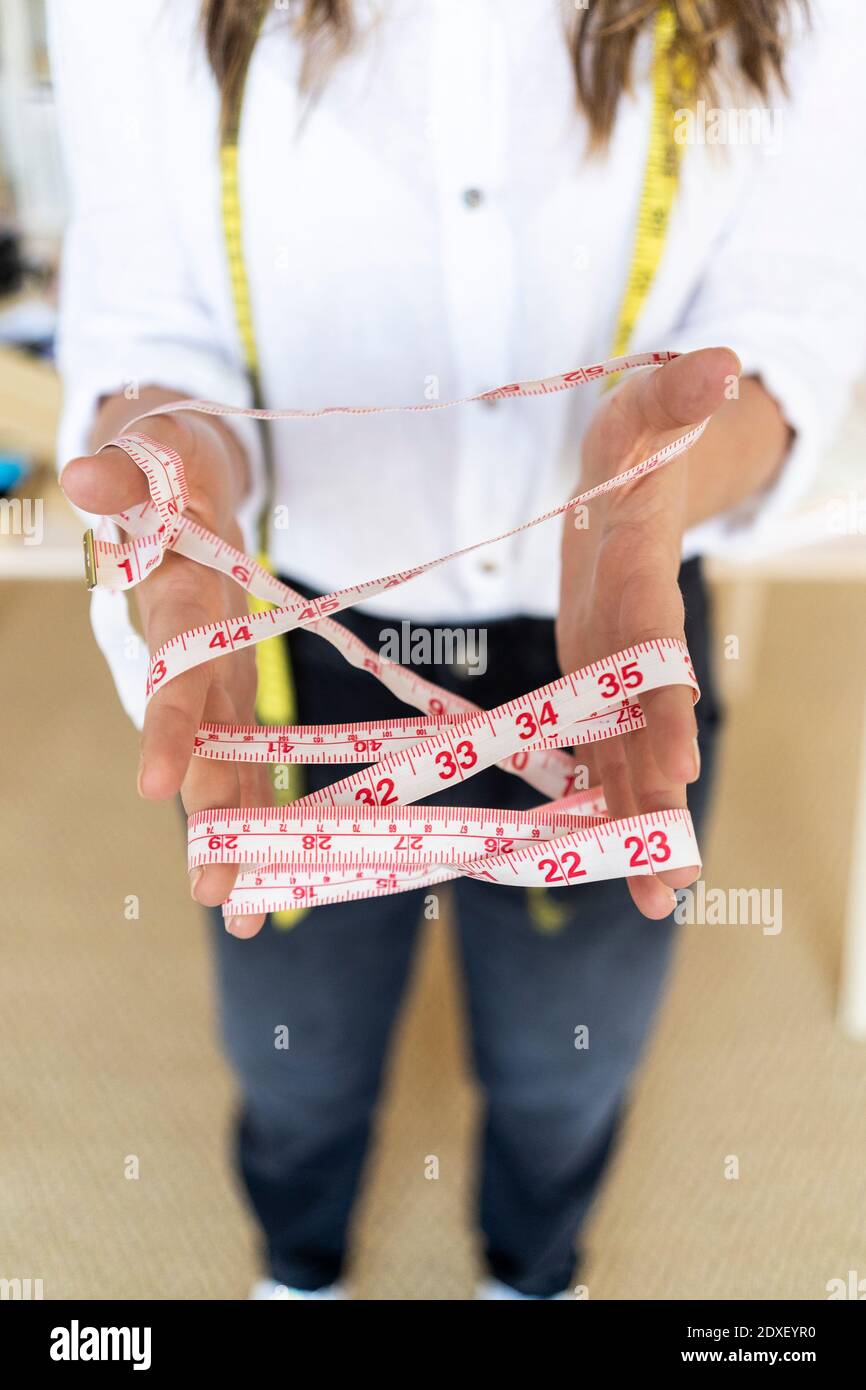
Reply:
M57 343L64 384L60 466L86 450L95 410L107 395L125 392L135 402L136 389L158 385L178 396L252 404L238 345L225 316L197 293L190 249L178 227L161 82L182 35L177 18L168 28L168 8L174 3L167 7L164 0L49 0L70 206ZM181 0L183 22L193 11ZM193 24L188 31L189 47ZM225 423L250 460L253 488L242 524L252 538L263 499L259 425Z

